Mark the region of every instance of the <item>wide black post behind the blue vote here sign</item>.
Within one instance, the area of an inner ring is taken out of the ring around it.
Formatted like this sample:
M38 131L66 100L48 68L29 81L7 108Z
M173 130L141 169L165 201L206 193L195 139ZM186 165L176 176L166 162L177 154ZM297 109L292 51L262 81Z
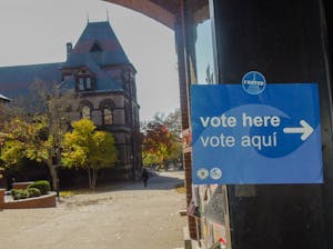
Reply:
M232 249L333 248L332 106L321 1L213 4L220 83L240 83L256 70L268 83L320 87L325 185L229 186Z

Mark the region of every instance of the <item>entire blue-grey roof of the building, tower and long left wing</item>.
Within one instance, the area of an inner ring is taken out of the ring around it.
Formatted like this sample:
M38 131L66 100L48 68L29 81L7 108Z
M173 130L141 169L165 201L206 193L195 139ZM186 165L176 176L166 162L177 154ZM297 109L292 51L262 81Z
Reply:
M36 80L61 82L63 88L74 88L74 78L62 79L61 69L87 67L95 74L95 91L123 90L104 66L129 66L134 71L109 21L89 22L65 62L0 67L0 91L9 98L27 93ZM63 80L63 81L62 81Z

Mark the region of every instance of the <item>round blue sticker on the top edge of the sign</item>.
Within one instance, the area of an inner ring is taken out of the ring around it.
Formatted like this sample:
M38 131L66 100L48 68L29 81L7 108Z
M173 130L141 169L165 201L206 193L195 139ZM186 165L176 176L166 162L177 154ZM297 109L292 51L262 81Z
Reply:
M266 80L260 72L251 71L243 77L242 87L249 94L259 94L265 90Z

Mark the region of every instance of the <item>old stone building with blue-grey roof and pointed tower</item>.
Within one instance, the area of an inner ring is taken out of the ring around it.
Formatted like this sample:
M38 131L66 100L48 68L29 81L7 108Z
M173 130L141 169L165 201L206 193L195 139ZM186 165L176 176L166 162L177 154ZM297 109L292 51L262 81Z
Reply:
M0 68L0 90L18 98L37 80L73 89L73 120L91 119L115 137L119 162L110 178L134 179L141 170L135 73L109 21L88 22L78 42L67 43L64 62Z

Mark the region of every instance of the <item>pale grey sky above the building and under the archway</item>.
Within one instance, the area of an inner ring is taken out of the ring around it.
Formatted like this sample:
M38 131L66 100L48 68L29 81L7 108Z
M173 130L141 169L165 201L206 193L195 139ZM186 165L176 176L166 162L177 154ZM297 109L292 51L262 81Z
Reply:
M0 0L0 67L62 62L65 43L78 41L88 20L108 18L138 70L140 119L179 108L173 31L101 0Z

